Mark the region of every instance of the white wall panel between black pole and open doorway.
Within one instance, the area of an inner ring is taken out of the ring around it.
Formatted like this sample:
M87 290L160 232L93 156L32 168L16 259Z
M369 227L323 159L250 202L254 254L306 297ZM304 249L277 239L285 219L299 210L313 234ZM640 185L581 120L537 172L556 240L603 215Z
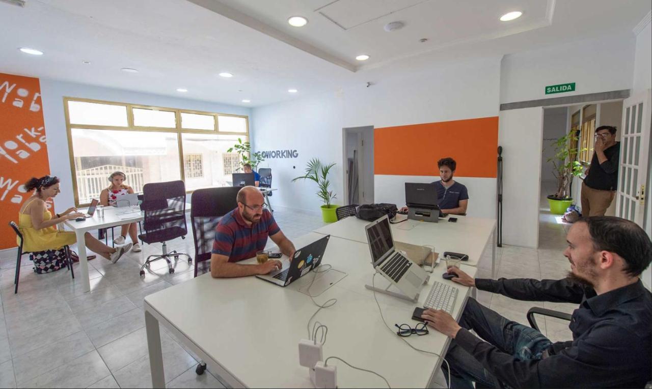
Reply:
M539 246L539 194L543 137L541 107L501 111L503 146L503 243Z

